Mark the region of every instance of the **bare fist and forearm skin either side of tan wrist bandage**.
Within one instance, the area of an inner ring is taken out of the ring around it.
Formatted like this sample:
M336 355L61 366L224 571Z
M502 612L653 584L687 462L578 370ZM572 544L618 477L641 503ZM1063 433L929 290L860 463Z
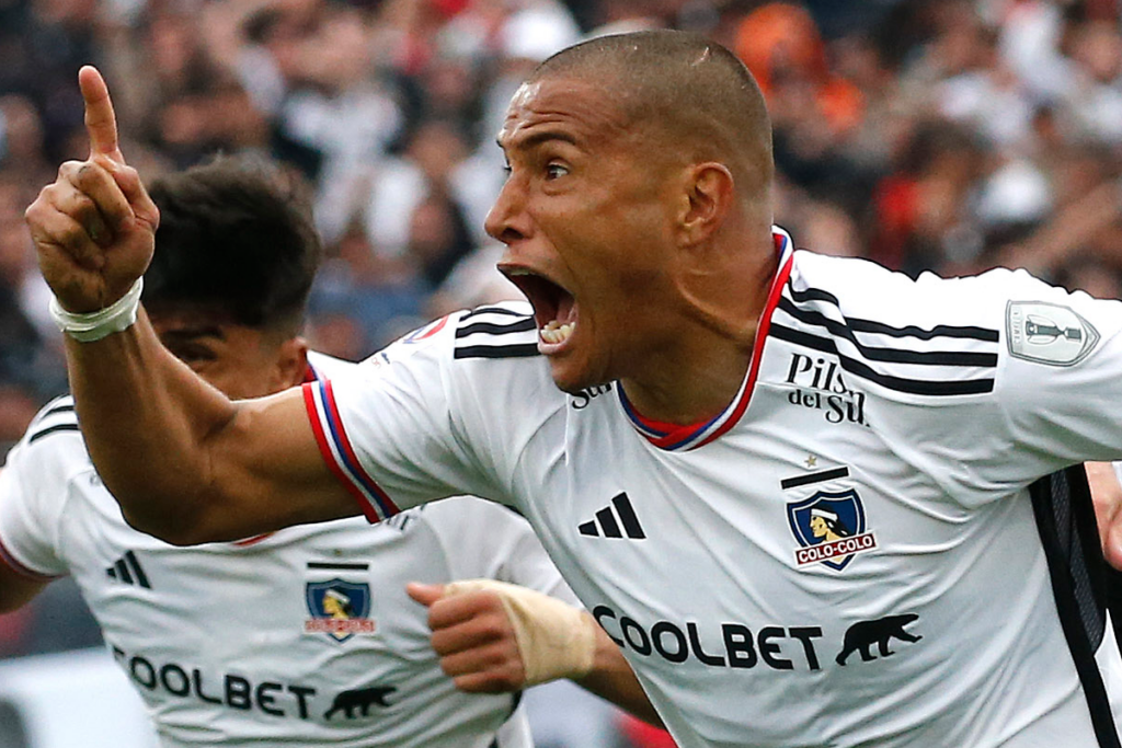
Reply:
M546 598L568 608L567 603L540 592L518 589L524 594ZM458 689L469 693L503 693L533 685L527 682L527 667L517 635L498 593L489 590L447 592L443 584L419 583L411 583L406 590L411 598L429 608L432 648L441 657L441 668ZM619 647L599 626L591 624L591 629L595 636L591 667L571 680L586 691L661 727L659 714Z

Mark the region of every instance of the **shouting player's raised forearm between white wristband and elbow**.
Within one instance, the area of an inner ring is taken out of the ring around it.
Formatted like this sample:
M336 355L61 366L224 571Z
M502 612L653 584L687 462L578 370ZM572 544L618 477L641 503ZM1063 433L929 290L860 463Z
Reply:
M159 536L181 528L212 482L233 404L164 349L142 311L100 341L67 336L66 357L86 446L126 519Z

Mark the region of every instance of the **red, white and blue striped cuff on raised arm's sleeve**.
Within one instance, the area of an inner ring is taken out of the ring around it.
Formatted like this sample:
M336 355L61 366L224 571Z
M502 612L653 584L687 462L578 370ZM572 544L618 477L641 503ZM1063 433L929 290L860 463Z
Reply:
M334 473L347 490L353 496L370 521L381 521L393 517L399 509L381 487L362 468L347 432L343 430L339 408L335 405L334 393L330 381L315 381L302 386L304 390L304 407L315 434L328 469Z

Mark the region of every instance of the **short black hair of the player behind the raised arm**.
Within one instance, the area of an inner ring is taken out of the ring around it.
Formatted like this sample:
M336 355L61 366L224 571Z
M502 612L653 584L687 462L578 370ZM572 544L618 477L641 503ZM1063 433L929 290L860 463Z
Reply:
M260 159L219 156L154 179L149 193L160 218L148 308L199 306L233 324L300 331L322 251L295 183Z

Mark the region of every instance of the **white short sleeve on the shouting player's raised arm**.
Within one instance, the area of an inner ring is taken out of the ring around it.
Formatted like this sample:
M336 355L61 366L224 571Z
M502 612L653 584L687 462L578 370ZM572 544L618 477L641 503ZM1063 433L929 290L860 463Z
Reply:
M304 385L320 452L371 521L463 493L512 502L495 462L509 452L513 418L495 398L514 397L499 377L517 355L535 354L535 333L527 315L493 314L486 334L499 341L497 358L468 358L479 352L463 348L481 324L472 314L438 320L343 376Z

